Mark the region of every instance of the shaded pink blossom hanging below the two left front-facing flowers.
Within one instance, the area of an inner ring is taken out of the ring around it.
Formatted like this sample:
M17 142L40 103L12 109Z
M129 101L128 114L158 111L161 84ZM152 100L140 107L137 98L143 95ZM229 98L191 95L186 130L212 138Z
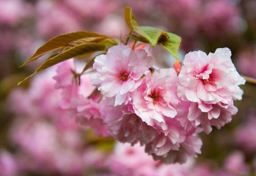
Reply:
M129 111L130 105L109 106L109 100L101 102L101 115L110 135L122 143L146 144L155 138L157 131Z

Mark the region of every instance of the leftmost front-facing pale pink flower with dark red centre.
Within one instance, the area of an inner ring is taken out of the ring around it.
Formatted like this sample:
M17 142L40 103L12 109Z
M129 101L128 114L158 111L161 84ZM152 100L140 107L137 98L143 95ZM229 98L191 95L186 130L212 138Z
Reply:
M142 75L146 75L152 66L152 58L145 50L133 50L128 45L119 44L94 60L94 72L91 83L98 86L106 97L115 97L114 105L127 104L130 92L142 84Z

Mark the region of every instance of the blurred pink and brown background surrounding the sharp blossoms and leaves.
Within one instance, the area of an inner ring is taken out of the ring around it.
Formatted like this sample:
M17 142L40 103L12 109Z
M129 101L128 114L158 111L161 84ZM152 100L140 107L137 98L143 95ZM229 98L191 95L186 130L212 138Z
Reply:
M94 136L59 107L54 71L20 87L38 63L19 68L50 38L94 31L124 37L123 8L140 25L182 37L185 53L228 47L238 72L256 79L255 0L0 0L0 175L256 175L256 85L242 86L233 121L203 138L202 154L164 165L143 148ZM171 67L168 53L156 55ZM40 62L40 61L39 61Z

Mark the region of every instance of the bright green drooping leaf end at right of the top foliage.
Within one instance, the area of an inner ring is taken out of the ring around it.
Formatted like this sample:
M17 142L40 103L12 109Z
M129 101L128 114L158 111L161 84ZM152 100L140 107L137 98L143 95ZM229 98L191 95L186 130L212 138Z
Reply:
M163 46L164 49L169 51L176 59L179 60L178 51L180 48L181 38L173 33L167 33L167 37L162 37L159 40L159 45Z

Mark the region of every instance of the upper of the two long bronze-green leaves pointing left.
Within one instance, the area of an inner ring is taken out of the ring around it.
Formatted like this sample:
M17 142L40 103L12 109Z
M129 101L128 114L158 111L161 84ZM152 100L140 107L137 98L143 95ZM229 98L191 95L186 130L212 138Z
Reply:
M89 42L89 41L96 40L95 37L96 38L101 37L102 40L104 40L105 38L110 38L105 35L101 35L95 32L88 32L88 31L78 31L78 32L67 33L64 35L53 37L51 40L47 41L45 44L40 46L40 48L38 48L38 50L36 50L35 53L30 57L30 59L24 62L22 66L27 65L27 63L30 63L32 61L35 61L42 55L47 54L51 51L63 49L65 46L69 46L69 45L74 46L77 40L79 39L81 40L81 38L89 38L89 39L84 39L85 42ZM81 42L79 42L79 44L80 43Z

